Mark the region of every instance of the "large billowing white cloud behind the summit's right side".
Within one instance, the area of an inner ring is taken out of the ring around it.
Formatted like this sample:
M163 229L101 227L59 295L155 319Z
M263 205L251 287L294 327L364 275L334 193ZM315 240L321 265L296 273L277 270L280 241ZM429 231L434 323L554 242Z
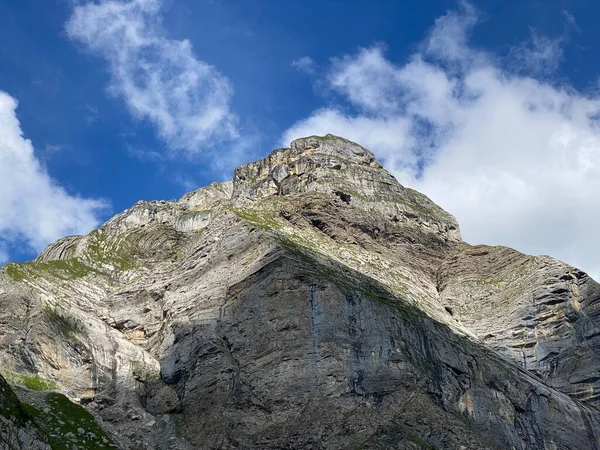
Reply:
M354 108L318 109L282 140L346 136L452 212L468 242L551 254L598 278L600 97L507 69L469 46L476 23L464 3L402 64L377 46L333 59L325 83ZM521 49L552 66L552 42Z

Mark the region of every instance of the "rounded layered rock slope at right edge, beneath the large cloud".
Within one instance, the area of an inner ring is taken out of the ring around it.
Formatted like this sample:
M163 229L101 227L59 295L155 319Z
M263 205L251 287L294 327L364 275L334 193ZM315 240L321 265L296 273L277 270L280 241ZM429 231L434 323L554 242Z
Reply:
M600 406L600 285L587 274L509 248L459 247L438 282L442 303L487 345Z

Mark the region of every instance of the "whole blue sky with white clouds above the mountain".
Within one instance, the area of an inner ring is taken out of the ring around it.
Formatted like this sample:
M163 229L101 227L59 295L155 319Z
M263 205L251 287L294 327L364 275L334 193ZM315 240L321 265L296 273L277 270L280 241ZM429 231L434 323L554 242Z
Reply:
M600 5L0 0L0 261L307 134L600 275Z

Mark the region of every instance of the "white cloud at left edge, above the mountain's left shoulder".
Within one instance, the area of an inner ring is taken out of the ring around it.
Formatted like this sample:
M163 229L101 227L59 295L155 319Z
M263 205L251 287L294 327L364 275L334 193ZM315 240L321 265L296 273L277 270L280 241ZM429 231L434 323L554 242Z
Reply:
M69 194L46 173L23 137L16 108L0 91L0 262L15 243L39 251L62 236L90 231L106 207Z

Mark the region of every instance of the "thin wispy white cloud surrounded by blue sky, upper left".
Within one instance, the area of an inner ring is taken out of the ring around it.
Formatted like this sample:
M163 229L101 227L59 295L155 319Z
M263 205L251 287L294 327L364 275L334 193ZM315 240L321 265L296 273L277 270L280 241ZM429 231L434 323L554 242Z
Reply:
M151 121L174 151L195 154L237 137L230 111L233 89L213 66L196 58L187 40L168 39L162 0L101 0L75 7L71 39L103 57L109 91L137 118Z

